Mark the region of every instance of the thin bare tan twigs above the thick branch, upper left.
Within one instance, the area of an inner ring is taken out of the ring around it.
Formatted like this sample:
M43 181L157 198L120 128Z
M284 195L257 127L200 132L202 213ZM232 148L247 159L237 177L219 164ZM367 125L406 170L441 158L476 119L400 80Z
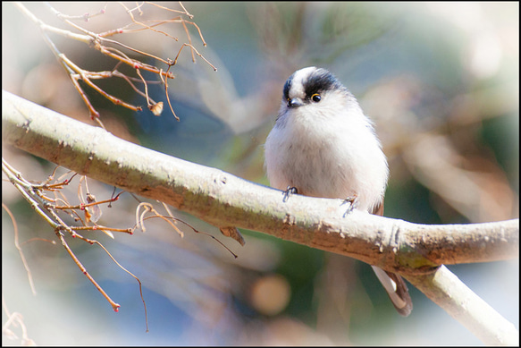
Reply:
M148 109L154 114L154 115L161 115L164 109L164 103L163 102L155 102L154 99L150 98L148 94L148 85L150 84L161 84L164 87L164 96L166 98L166 101L168 102L168 106L170 107L170 110L172 111L172 115L179 121L179 117L175 115L172 103L169 98L168 94L168 80L174 79L174 75L171 72L171 68L173 65L177 64L178 59L181 55L182 50L185 47L190 48L191 58L192 62L196 62L196 55L200 57L206 64L209 64L214 71L217 69L214 67L213 64L208 62L206 58L201 55L197 48L193 46L192 44L192 38L189 34L189 28L188 26L193 26L197 30L197 34L199 38L201 39L203 46L206 47L206 41L203 38L203 34L201 33L201 30L197 26L197 24L193 21L188 21L185 19L185 17L188 17L189 19L193 18L193 15L190 14L184 6L180 3L180 7L182 10L173 10L168 7L165 7L160 4L154 4L154 3L148 3L143 2L140 4L137 4L133 8L127 7L125 4L119 3L125 12L128 14L130 18L130 23L127 25L124 25L120 28L113 29L113 30L106 30L104 32L93 32L90 30L87 30L83 27L81 27L76 21L89 21L97 16L103 16L106 14L106 4L105 8L100 10L97 13L89 14L85 13L79 16L71 16L64 13L59 12L57 9L55 9L54 6L51 4L47 4L50 11L52 13L55 13L56 17L62 20L64 23L66 23L68 26L70 26L73 30L79 31L80 34L75 33L71 30L63 30L56 28L54 26L48 25L45 22L41 21L36 17L33 13L30 13L27 7L25 7L23 4L17 4L17 6L20 8L21 12L26 14L29 19L34 21L38 24L40 30L42 31L42 35L46 40L46 43L53 51L54 55L62 64L63 69L69 74L69 77L71 78L71 82L74 85L74 88L78 91L80 94L80 97L82 98L85 105L88 107L88 111L90 114L90 118L92 120L95 120L100 126L104 127L103 123L100 120L100 114L97 111L96 107L92 105L90 100L88 99L87 94L84 92L83 88L81 87L79 81L83 81L85 84L88 85L91 89L94 89L102 95L103 97L110 100L114 105L123 106L126 108L129 108L133 111L141 111L142 106L133 105L131 103L128 103L121 98L117 98L109 93L107 93L104 89L97 86L96 83L94 83L95 80L103 80L103 79L110 79L110 78L120 78L124 80L128 85L130 85L130 88L133 89L136 93L138 93L140 96L145 98L147 100L147 107ZM176 17L165 19L165 20L147 20L147 21L139 21L137 17L142 16L144 13L145 7L153 6L155 8L159 8L164 13L175 13L180 14ZM141 51L138 48L130 47L128 45L123 44L122 42L115 39L118 36L125 35L125 34L131 34L136 33L143 30L150 30L154 32L155 34L161 34L166 36L167 38L172 38L174 41L179 41L179 38L175 38L172 35L170 35L166 30L160 29L168 24L173 23L179 23L181 24L184 32L186 33L188 42L183 43L181 47L179 48L179 51L175 58L172 60L170 58L161 58L156 55L152 55L150 53L147 53L145 51ZM72 60L62 53L58 47L56 47L54 41L52 38L49 37L48 34L54 33L61 35L66 38L71 38L80 42L83 42L87 44L89 47L92 47L96 49L98 52L100 52L102 55L105 55L107 57L112 58L116 64L113 67L112 71L103 71L103 72L91 72L85 69L82 69L78 64L75 64L72 62ZM134 58L131 57L131 55L137 55L140 58ZM145 59L152 58L157 64L147 64L144 62ZM131 69L135 70L136 75L130 76L129 74L125 72L121 72L120 68L124 65L130 66ZM165 67L161 68L159 67L159 64L164 64ZM120 69L120 70L119 70ZM148 81L143 77L142 72L152 72L155 75L157 75L158 80L157 81ZM140 87L139 87L140 85ZM105 127L104 127L105 128Z

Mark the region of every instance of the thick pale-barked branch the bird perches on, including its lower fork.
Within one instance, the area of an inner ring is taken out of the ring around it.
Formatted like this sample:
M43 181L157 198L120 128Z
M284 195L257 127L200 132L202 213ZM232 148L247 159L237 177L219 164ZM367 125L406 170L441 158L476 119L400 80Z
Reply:
M283 202L282 191L139 147L5 91L2 98L2 138L8 144L122 190L161 200L222 229L237 226L268 233L397 272L454 318L466 320L464 325L485 344L518 343L516 328L492 308L496 315L488 317L497 319L500 332L497 325L475 318L483 313L470 309L483 301L440 267L517 258L518 219L419 225L357 210L344 217L348 206L341 199L294 195ZM454 289L466 303L454 301Z

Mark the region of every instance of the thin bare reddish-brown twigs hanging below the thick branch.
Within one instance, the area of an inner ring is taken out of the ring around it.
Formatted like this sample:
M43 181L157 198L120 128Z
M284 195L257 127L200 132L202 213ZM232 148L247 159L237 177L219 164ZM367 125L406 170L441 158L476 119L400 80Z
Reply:
M79 176L79 174L74 173L72 171L68 171L67 173L61 175L58 178L55 178L55 174L57 169L60 166L56 166L55 170L51 175L49 175L45 182L29 182L29 180L25 179L23 175L13 168L4 158L2 158L2 172L6 176L6 178L13 184L13 186L21 193L21 196L26 199L31 208L38 214L38 216L42 217L48 225L50 225L55 234L63 245L63 248L67 251L71 259L74 261L77 267L80 268L81 273L84 276L87 276L88 280L94 284L99 293L101 293L105 300L110 303L114 311L118 311L121 307L118 303L113 301L113 299L105 293L105 290L97 284L97 281L88 273L86 267L83 266L80 259L75 255L74 251L69 246L69 243L66 240L66 236L70 235L71 238L79 239L83 242L88 242L90 245L96 244L105 253L108 255L113 262L120 267L123 271L128 273L130 276L134 277L139 283L139 293L141 296L141 301L143 301L143 306L145 308L145 317L147 318L147 305L143 298L141 281L137 276L134 276L128 269L123 267L116 259L113 258L111 253L105 248L105 246L98 242L95 239L87 238L82 235L84 232L96 232L101 231L108 235L109 237L114 239L113 233L129 233L133 234L135 230L140 229L142 232L147 230L145 226L145 221L151 218L160 218L164 220L168 225L172 227L174 231L180 234L181 237L184 236L184 233L181 229L176 225L177 223L181 223L182 225L188 226L194 233L202 233L214 239L214 241L218 242L223 246L226 250L228 250L235 258L237 255L234 254L229 248L227 248L223 242L220 242L217 238L209 233L204 233L198 231L192 225L182 221L179 218L176 218L172 215L172 211L166 204L163 204L165 214L159 212L154 205L148 202L139 202L139 205L136 208L136 223L130 228L116 228L109 227L105 225L99 225L97 222L100 217L103 215L102 207L111 208L112 203L120 199L120 196L123 192L114 195L113 192L112 197L109 199L97 200L96 196L88 190L88 182L87 177L80 175L79 183L78 183L78 199L80 201L79 204L71 203L71 199L67 198L66 193L63 189L70 185L72 180ZM84 193L85 187L85 193ZM21 250L21 243L19 242L19 233L18 226L16 224L16 219L13 216L11 210L2 204L4 210L8 213L13 221L13 230L14 230L14 244L16 249L19 251L21 256L21 261L23 266L27 271L27 275L29 277L29 285L32 293L36 294L36 287L34 285L34 281L32 279L32 275L29 269L29 264L24 257L24 254ZM73 223L68 221L72 220ZM27 242L33 242L34 239L31 239ZM52 240L43 240L44 242L51 242L56 244L55 241ZM13 318L14 320L14 318ZM147 319L146 319L147 321ZM147 327L148 331L148 327Z

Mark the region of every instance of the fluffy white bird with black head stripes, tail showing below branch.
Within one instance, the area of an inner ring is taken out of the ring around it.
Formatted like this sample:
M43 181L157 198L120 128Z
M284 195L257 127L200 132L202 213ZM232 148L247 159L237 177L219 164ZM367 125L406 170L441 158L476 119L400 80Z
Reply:
M383 215L387 159L371 120L331 72L315 66L294 72L265 141L270 185L290 193L349 199L352 207ZM401 276L374 267L399 314L412 310Z

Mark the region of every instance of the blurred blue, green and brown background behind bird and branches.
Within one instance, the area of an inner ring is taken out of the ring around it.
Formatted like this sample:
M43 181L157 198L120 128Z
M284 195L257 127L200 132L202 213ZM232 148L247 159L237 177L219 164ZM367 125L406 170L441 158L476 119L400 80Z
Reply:
M161 3L181 10L178 3ZM45 4L25 4L41 21L74 30ZM53 4L69 15L98 13L74 21L94 32L130 23L119 4ZM333 72L357 97L391 167L385 216L422 224L500 221L519 215L519 4L518 3L183 3L197 23L113 37L141 51L174 59L184 42L217 68L182 49L171 72L169 96L157 117L114 106L87 87L105 127L147 148L214 166L268 184L263 143L292 72L316 65ZM135 4L128 4L129 8ZM143 5L143 17L172 19ZM138 15L136 14L138 18ZM141 19L142 18L142 19ZM90 71L115 63L69 38L49 34L60 52ZM126 54L139 59L143 56ZM148 58L147 58L148 59ZM148 64L165 65L147 60ZM119 69L119 68L118 68ZM121 68L124 71L124 67ZM127 70L128 73L131 70ZM146 74L147 79L157 78ZM121 79L96 81L105 91L136 105L146 101ZM85 85L82 85L85 86ZM2 3L2 87L64 115L96 124L67 73L46 46L38 27L11 3ZM4 146L3 157L26 179L44 181L55 166ZM59 169L56 177L65 174ZM66 189L78 202L79 178ZM401 318L370 267L354 259L241 230L246 245L182 212L176 217L214 235L180 225L184 236L150 220L134 235L85 233L139 276L137 282L97 246L68 238L71 249L114 301L114 313L80 273L52 229L34 214L9 182L2 200L13 211L24 256L38 294L14 246L13 222L2 213L4 309L23 316L27 335L39 345L476 345L456 320L409 285L414 303ZM113 187L88 181L97 199ZM103 207L99 224L131 227L138 201L128 194ZM157 207L160 207L157 205ZM57 241L56 241L57 242ZM449 266L475 293L519 327L518 260ZM2 315L3 324L7 317ZM21 344L21 328L9 327L3 345Z

